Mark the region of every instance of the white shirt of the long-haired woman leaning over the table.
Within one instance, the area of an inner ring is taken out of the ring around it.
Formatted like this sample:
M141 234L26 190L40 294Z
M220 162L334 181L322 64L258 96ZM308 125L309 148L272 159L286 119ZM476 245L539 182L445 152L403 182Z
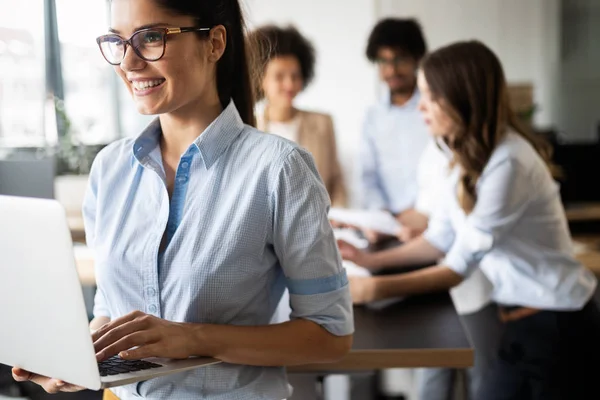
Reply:
M469 215L456 197L458 172L424 234L447 253L445 265L465 277L480 267L499 304L583 307L596 278L573 257L558 185L535 149L509 133L479 178Z

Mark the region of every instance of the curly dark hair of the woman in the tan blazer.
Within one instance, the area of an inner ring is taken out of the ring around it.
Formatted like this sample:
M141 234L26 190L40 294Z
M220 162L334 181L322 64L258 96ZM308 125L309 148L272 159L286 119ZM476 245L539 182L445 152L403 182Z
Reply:
M275 57L293 56L300 64L304 87L315 76L315 49L304 36L293 26L280 28L266 25L250 33L250 43L256 46L257 62L264 72L269 60ZM260 86L260 85L259 85ZM262 91L259 91L262 97Z

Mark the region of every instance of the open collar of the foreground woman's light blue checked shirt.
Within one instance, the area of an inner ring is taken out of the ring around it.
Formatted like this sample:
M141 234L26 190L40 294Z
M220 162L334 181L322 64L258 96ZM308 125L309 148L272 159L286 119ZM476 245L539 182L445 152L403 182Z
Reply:
M243 129L244 122L231 100L221 114L194 140L192 146L195 149L188 149L188 152L199 151L206 168L209 169ZM144 159L158 146L161 134L160 119L156 118L134 141L132 166L135 160L140 164L145 163Z

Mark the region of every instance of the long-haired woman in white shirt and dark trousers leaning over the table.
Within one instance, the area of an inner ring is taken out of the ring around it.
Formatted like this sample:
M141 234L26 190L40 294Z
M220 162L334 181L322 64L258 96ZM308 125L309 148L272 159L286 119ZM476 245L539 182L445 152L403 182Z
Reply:
M456 43L424 59L419 87L429 130L450 149L447 196L424 235L401 247L339 245L373 269L443 261L354 278L354 302L449 289L481 268L504 332L478 398L598 398L596 279L573 257L549 149L516 120L500 61L480 42Z

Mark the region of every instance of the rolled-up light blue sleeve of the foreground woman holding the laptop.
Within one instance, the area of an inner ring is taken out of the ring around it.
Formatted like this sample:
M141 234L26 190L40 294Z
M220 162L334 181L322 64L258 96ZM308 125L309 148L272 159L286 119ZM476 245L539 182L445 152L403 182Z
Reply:
M327 219L329 197L310 154L294 149L287 155L270 203L291 318L311 320L337 336L352 334L348 278Z

